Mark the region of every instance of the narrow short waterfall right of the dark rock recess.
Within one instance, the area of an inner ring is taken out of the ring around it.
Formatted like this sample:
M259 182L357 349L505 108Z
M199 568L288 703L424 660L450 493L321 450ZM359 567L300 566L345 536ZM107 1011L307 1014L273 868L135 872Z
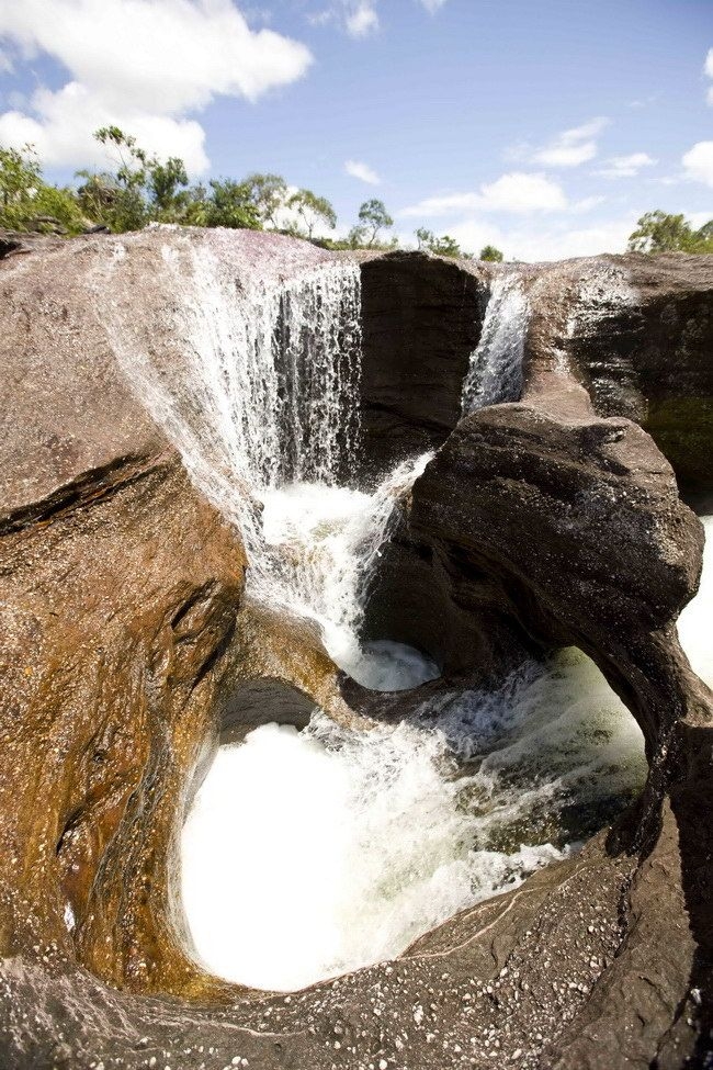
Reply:
M471 354L463 383L463 414L485 405L517 402L522 394L522 357L528 301L516 272L491 284L480 340Z

